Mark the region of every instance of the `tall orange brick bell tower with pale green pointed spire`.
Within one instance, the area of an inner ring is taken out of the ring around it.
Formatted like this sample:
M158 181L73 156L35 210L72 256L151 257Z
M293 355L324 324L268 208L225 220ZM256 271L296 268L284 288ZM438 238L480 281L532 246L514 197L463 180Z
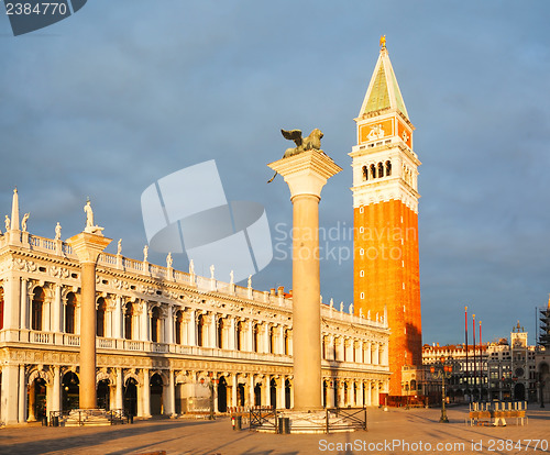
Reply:
M384 315L389 337L389 395L417 395L421 382L422 326L418 262L418 166L405 102L381 38L352 148L354 309ZM418 367L418 371L416 368ZM408 390L408 391L407 391Z

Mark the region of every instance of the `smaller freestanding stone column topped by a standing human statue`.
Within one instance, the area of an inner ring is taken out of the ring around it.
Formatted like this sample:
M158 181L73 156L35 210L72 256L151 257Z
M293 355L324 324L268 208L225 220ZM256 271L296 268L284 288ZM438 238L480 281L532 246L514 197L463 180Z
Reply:
M96 263L111 238L81 232L67 240L80 262L80 409L97 407L96 393Z

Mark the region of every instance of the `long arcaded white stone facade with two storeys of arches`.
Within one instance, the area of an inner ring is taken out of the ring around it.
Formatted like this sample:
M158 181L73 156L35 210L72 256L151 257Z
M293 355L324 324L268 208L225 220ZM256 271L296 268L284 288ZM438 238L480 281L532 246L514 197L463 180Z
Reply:
M0 422L78 407L81 269L72 247L0 236ZM102 253L96 269L98 406L142 418L293 407L293 300ZM377 406L387 319L321 306L322 403Z

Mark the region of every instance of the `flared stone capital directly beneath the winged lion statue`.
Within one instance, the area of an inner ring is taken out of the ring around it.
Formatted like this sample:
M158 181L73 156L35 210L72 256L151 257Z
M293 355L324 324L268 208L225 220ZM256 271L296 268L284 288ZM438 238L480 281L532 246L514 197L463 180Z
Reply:
M290 198L300 195L320 198L327 180L342 170L328 155L316 149L301 152L267 166L283 176L290 189Z

